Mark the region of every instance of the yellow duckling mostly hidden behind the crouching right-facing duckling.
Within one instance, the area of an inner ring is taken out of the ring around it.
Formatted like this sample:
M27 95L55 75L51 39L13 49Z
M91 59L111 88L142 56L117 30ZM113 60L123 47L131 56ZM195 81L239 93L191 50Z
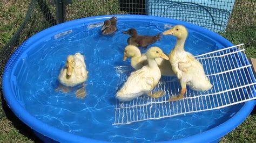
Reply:
M147 65L146 54L141 54L139 48L136 46L128 45L125 47L123 60L125 61L127 58L131 58L131 66L136 70ZM169 60L156 58L156 62L161 71L161 75L164 75L164 76L175 75L172 71L172 67Z

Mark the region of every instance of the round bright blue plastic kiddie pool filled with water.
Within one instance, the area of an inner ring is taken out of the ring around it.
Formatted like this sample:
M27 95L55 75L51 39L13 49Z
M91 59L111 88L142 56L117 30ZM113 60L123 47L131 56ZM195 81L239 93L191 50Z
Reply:
M15 115L42 139L60 142L130 141L130 142L211 142L218 141L242 123L255 101L218 110L188 113L130 125L113 125L114 98L120 88L116 67L130 66L123 61L127 45L126 31L154 35L168 25L182 24L189 35L185 49L193 55L204 54L233 44L205 28L178 20L136 15L117 15L118 31L100 34L100 26L111 16L72 20L43 30L23 42L12 54L3 74L3 94ZM176 38L163 36L151 46L170 53ZM70 92L55 89L60 69L69 54L85 56L89 77L87 96L78 99L76 87Z

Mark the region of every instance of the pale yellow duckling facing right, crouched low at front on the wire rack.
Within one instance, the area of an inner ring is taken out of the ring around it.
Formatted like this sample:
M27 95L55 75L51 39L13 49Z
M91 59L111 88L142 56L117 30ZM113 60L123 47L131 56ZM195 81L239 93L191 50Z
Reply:
M123 87L117 92L116 98L119 101L131 101L143 94L154 98L165 94L163 91L157 91L152 94L151 91L156 87L161 77L161 71L155 59L163 58L169 60L168 56L159 47L151 47L147 50L146 57L148 65L133 71Z

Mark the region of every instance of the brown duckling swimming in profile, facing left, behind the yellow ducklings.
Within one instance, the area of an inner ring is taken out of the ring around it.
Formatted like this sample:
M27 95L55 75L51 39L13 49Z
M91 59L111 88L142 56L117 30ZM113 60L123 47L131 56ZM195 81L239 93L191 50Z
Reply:
M127 39L127 43L129 45L133 45L133 46L141 46L144 48L147 48L148 45L153 44L154 42L156 42L157 40L159 40L161 38L161 34L157 34L154 36L150 36L150 35L138 35L136 29L134 28L130 28L127 31L123 32L124 34L129 34L131 35L130 38Z

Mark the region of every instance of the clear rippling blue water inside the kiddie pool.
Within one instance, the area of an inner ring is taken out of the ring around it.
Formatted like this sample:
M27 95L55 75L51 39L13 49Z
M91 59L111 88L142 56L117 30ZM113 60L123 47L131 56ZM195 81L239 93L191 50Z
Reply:
M22 65L19 71L15 71L21 104L31 115L60 130L97 140L132 142L188 137L223 123L237 111L238 108L231 106L130 125L112 125L116 108L114 97L124 82L116 68L130 67L129 60L123 61L129 35L122 31L131 27L143 35L156 35L166 30L163 23L122 21L118 22L118 31L112 35L101 35L100 27L82 26L57 39L52 36L37 44L29 56L19 62ZM189 32L185 49L194 55L223 47L206 35ZM175 42L176 38L169 35L151 46L159 46L165 53L170 53ZM89 71L84 99L76 98L76 88L68 93L55 90L66 57L76 52L85 56ZM127 75L133 70L128 69Z

